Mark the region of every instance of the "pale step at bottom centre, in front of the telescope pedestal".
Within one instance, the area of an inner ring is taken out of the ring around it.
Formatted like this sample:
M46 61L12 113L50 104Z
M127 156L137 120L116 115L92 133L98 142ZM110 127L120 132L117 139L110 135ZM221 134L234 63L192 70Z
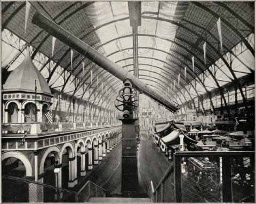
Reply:
M151 202L149 198L112 198L112 197L92 197L87 202L109 202L109 203L138 203L138 202Z

